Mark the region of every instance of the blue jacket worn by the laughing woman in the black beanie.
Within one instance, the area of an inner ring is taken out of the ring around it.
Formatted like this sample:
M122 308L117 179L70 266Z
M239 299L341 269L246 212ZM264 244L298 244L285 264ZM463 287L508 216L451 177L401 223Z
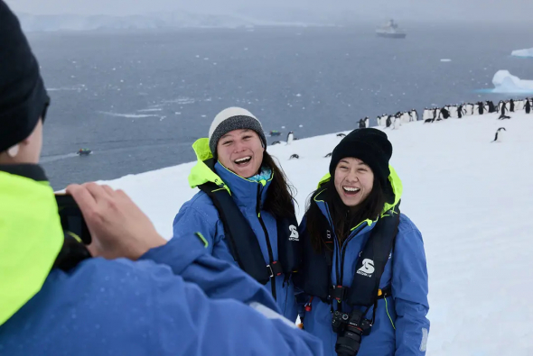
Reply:
M396 205L401 197L401 181L394 169L390 168L389 181L396 195ZM332 224L327 203L315 202L323 215ZM385 210L393 205L386 205ZM365 243L376 222L365 221L358 225L350 236L339 246L335 238L333 253L332 284L351 286L353 275ZM305 221L300 224L300 236L308 239ZM342 265L342 280L338 280L336 270L341 267L341 251L345 251ZM429 333L429 321L425 317L429 310L427 302L427 269L422 235L416 225L400 215L396 244L381 276L379 288L392 288L392 297L379 299L375 323L368 336L363 336L358 356L423 356ZM333 303L335 305L336 303ZM336 307L335 307L336 309ZM373 307L367 318L372 318ZM342 311L350 311L351 306L342 303ZM362 308L361 308L362 310ZM337 334L332 331L331 305L314 297L311 311L304 313L304 329L323 341L324 355L336 356L335 342Z

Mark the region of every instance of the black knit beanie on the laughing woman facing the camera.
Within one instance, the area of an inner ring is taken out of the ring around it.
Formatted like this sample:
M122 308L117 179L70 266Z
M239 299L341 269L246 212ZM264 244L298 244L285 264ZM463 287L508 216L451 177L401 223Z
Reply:
M330 174L334 176L339 161L346 157L353 157L365 162L374 176L379 179L381 186L387 188L388 160L392 156L392 144L388 141L387 133L378 129L356 129L346 135L332 152Z

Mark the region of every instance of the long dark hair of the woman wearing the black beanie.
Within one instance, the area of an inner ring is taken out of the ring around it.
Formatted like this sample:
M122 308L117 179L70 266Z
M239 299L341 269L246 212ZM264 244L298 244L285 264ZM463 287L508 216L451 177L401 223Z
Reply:
M307 212L305 213L305 224L307 232L311 237L311 243L314 251L320 252L323 247L323 233L320 229L319 222L323 219L323 213L314 201L314 197L323 192L323 201L329 207L330 215L332 215L332 228L337 236L340 244L344 242L350 236L351 229L361 222L369 219L376 220L381 214L387 197L379 179L374 178L374 186L370 191L369 196L363 200L360 205L355 209L351 209L349 206L344 205L341 200L341 196L337 192L335 185L331 178L327 183L323 184L315 190L307 202Z

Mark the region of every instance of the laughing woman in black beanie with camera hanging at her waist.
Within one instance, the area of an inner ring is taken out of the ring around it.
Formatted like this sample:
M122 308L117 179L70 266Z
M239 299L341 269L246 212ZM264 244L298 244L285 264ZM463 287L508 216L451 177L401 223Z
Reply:
M325 355L425 354L424 242L399 214L402 185L391 155L387 134L377 129L344 137L300 224L300 316Z

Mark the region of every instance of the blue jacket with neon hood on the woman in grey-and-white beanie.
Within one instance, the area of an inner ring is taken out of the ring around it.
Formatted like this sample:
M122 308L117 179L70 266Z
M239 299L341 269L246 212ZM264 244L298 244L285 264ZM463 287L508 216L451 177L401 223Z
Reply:
M254 182L246 178L241 178L229 169L226 169L219 162L215 164L216 172L213 172L203 163L204 160L212 157L209 151L209 140L200 139L194 143L193 148L198 156L198 163L192 169L189 177L190 185L197 187L207 181L211 181L229 189L239 210L248 220L250 227L257 236L257 241L265 259L265 266L269 262L268 249L266 247L267 238L270 241L273 258L277 260L276 219L273 215L266 212L262 206L265 203L266 191L270 187L271 180ZM257 202L257 190L260 191L259 202ZM259 217L257 216L257 203L260 206L260 218L266 226L268 236L265 235ZM229 246L224 236L224 226L220 220L219 213L210 197L202 191L198 192L191 200L182 205L173 222L174 239L195 239L195 232L200 232L207 242L209 242L208 251L210 254L220 260L227 260L237 265L237 262L229 252ZM295 301L294 284L292 279L284 283L284 278L283 275L276 277L275 288L272 288L270 281L265 287L273 293L274 291L276 292L276 303L282 315L295 322L298 310Z

